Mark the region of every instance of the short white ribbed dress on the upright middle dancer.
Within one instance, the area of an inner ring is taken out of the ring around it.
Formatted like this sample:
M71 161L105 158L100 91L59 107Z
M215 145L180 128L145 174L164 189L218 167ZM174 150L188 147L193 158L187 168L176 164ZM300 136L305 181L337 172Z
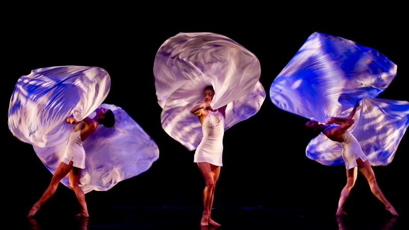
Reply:
M224 117L217 110L209 111L202 125L203 138L194 152L193 162L223 166Z

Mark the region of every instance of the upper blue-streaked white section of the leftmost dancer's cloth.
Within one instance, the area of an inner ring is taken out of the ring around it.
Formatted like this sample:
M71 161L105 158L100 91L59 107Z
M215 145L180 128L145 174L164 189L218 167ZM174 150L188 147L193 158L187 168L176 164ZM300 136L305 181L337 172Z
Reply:
M99 67L56 66L34 69L18 79L10 99L9 129L19 140L38 147L65 140L70 114L81 121L105 100L111 87ZM74 112L75 111L75 112Z

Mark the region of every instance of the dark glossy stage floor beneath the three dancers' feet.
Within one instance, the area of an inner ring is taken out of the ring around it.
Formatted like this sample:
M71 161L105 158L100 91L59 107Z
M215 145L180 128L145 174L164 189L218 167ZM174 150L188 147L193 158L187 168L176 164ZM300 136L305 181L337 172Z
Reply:
M215 229L201 227L201 208L177 202L164 205L95 207L89 218L77 219L77 207L48 205L34 218L16 214L9 229ZM56 211L58 210L58 211ZM353 211L337 218L321 207L248 206L215 204L212 217L222 224L217 229L408 229L407 215L394 218L377 208Z

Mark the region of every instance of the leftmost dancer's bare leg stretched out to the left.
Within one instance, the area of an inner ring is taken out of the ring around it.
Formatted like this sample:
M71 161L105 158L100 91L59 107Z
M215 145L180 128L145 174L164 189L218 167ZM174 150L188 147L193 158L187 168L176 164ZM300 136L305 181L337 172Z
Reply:
M55 193L60 181L67 176L68 172L72 169L72 161L69 165L61 162L60 165L54 172L54 175L51 178L50 185L48 185L47 189L44 191L44 194L41 196L40 200L35 202L35 204L31 207L30 212L28 213L28 217L32 217L35 213L40 209L41 205L46 202L50 197Z

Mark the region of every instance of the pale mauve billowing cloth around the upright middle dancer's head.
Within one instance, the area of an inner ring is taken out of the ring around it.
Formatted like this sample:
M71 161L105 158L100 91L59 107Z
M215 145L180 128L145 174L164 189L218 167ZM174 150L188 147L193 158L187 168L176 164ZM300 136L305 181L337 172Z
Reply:
M189 150L203 133L190 109L203 103L212 85L213 109L226 107L225 130L256 114L265 99L257 57L240 44L216 33L178 33L159 48L153 65L161 123L170 137Z

